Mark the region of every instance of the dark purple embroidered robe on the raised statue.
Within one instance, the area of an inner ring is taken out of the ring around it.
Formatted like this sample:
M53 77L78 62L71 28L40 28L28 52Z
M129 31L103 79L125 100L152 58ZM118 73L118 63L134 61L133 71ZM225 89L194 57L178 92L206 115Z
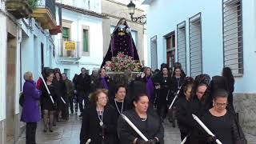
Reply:
M118 22L119 25L120 21ZM123 52L125 55L131 56L134 60L139 60L138 51L134 45L134 40L129 33L126 33L126 29L129 28L127 23L125 23L125 28L121 29L118 26L114 29L110 40L109 50L107 50L106 56L103 59L102 66L105 66L106 61L111 61L112 57L116 57L118 52Z

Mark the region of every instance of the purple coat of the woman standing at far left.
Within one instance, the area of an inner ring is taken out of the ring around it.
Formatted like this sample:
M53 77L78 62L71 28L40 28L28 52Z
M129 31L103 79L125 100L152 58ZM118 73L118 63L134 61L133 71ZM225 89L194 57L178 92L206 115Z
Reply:
M23 94L25 96L22 107L22 122L39 122L39 106L38 100L41 96L41 91L36 89L34 81L26 81L23 86Z

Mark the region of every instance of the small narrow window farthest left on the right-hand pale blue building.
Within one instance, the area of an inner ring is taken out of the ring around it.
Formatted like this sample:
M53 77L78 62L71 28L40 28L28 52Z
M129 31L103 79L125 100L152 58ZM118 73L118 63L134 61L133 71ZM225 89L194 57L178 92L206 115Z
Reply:
M150 39L150 54L151 54L151 69L156 70L158 68L158 39L155 35Z

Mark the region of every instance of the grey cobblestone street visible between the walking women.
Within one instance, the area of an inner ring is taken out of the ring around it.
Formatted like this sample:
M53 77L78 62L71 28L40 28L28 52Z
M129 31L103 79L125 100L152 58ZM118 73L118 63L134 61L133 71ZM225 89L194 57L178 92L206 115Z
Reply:
M165 127L165 143L166 144L179 144L180 134L178 128L173 128L170 122L164 122ZM43 133L42 122L38 123L37 129L37 142L38 144L78 144L79 134L81 128L81 119L78 116L70 117L69 122L58 122L54 127L54 132ZM249 144L256 144L256 137L246 134ZM18 140L18 144L25 144L25 132Z

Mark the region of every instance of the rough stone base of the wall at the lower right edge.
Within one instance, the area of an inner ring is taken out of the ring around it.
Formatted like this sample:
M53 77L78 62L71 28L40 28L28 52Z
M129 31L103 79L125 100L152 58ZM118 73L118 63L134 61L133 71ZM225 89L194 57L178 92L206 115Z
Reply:
M234 107L242 129L256 135L256 94L234 94Z

